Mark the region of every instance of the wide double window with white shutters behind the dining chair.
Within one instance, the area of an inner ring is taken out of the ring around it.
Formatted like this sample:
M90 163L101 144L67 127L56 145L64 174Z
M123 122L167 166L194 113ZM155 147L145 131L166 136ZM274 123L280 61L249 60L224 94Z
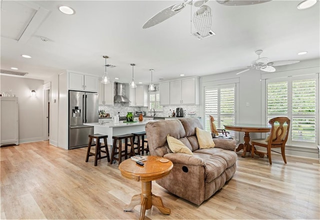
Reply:
M267 120L278 116L290 118L288 144L316 145L317 87L316 75L267 80Z

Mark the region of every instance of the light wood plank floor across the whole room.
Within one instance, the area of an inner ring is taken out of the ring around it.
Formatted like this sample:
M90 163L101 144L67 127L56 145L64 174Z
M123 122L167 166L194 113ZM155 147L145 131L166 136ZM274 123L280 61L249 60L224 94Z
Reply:
M63 150L47 142L0 148L1 219L138 219L140 206L123 212L140 182L121 177L106 159L85 163L86 148ZM195 206L152 182L169 216L156 208L145 219L320 219L319 162L287 156L241 158L233 178L209 200ZM186 180L187 181L187 180Z

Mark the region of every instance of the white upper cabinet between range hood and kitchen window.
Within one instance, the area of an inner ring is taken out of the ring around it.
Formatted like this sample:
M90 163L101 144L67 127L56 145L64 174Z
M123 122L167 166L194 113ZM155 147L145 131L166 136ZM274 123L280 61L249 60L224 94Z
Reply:
M130 88L128 84L125 84L125 94L129 98L129 106L148 106L148 86L136 85L136 88Z

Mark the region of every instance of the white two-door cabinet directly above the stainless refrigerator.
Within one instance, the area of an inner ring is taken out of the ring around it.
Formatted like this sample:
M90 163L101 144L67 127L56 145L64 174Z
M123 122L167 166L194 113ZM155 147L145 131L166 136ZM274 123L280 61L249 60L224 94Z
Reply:
M68 74L69 90L97 92L97 77L75 72L68 72Z

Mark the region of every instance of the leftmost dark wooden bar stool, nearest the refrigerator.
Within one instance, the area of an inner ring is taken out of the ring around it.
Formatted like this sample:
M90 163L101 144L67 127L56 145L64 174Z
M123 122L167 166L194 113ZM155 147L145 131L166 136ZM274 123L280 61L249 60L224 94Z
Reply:
M89 143L88 143L88 149L86 152L86 157L85 157L85 162L88 162L90 156L94 156L94 166L97 165L98 160L102 158L107 158L108 162L110 162L110 156L109 156L109 151L108 151L108 145L106 142L107 135L101 135L101 134L94 134L94 135L89 135ZM94 145L92 144L93 139L96 139L95 141L95 153L90 152L91 146ZM101 146L100 144L100 139L103 139L104 145ZM105 148L105 151L101 150L102 148ZM106 155L101 157L101 152L105 153Z

